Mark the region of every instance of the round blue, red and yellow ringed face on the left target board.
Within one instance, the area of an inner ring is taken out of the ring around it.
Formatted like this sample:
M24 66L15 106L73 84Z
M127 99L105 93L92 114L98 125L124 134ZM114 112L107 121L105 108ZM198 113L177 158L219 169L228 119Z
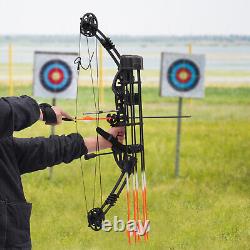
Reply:
M50 92L57 93L67 89L72 80L72 71L62 60L50 60L40 70L42 86Z

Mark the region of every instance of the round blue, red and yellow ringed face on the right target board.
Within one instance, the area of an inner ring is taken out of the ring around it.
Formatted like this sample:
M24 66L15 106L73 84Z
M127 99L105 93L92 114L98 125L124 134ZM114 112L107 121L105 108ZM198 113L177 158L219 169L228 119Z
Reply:
M189 59L179 59L170 65L167 80L174 89L189 91L195 88L200 80L199 68Z

